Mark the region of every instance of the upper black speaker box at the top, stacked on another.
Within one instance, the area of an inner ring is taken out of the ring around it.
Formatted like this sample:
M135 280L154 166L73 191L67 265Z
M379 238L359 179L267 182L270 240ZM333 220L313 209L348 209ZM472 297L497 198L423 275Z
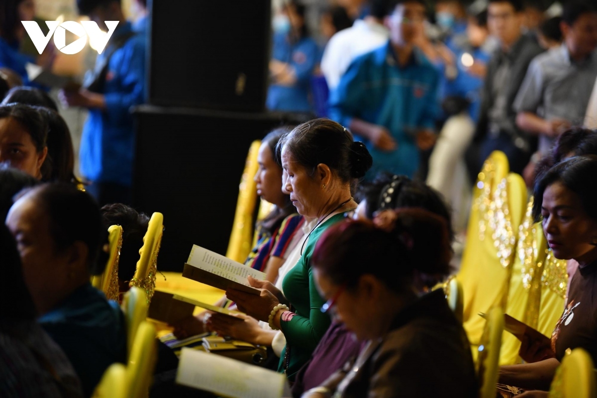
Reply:
M150 104L264 110L270 0L150 3Z

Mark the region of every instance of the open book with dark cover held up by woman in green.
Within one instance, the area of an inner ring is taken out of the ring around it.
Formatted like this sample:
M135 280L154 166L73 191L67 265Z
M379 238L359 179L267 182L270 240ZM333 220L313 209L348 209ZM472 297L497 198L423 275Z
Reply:
M230 260L200 246L193 245L189 260L184 264L183 276L221 290L237 289L259 295L259 290L251 288L248 276L264 280L263 272Z

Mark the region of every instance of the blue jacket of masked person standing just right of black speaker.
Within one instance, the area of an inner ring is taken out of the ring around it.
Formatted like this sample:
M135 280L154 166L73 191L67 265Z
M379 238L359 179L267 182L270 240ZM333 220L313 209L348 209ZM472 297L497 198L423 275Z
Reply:
M285 34L276 33L273 36L272 59L290 64L296 73L297 82L291 87L270 85L267 90L268 109L303 112L312 110L309 85L318 57L319 48L311 38L303 38L292 44Z

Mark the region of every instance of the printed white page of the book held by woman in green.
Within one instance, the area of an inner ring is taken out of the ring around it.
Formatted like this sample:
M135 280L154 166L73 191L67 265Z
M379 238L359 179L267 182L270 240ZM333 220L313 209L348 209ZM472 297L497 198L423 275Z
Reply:
M247 267L244 264L237 263L226 256L217 254L216 252L204 249L197 245L193 245L187 264L241 283L245 286L249 286L247 280L247 276L249 275L253 276L255 279L265 279L265 273Z

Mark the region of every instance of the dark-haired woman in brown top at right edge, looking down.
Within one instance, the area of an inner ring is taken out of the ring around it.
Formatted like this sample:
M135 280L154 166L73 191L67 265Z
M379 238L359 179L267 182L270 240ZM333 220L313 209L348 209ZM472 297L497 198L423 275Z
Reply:
M551 347L523 341L529 363L502 366L500 383L522 388L524 396L547 396L556 368L568 348L584 348L597 360L597 156L577 156L558 163L535 185L533 214L556 258L578 262L568 301L551 338ZM530 344L529 344L530 343Z

